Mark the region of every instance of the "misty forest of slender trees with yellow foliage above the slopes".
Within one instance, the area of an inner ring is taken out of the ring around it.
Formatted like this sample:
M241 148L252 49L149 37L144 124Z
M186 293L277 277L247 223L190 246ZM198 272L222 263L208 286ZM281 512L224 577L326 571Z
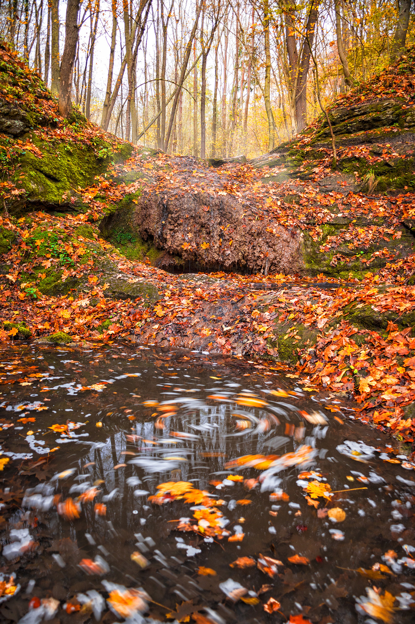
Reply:
M273 150L413 39L410 0L2 0L0 27L63 118L201 158Z

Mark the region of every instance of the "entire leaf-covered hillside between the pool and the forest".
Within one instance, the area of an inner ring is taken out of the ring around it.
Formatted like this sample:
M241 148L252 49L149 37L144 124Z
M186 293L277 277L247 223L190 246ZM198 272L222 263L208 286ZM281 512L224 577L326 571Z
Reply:
M413 441L409 52L330 110L335 171L320 120L273 154L210 167L59 119L4 48L0 71L2 340L279 361L308 391L353 398L357 417Z

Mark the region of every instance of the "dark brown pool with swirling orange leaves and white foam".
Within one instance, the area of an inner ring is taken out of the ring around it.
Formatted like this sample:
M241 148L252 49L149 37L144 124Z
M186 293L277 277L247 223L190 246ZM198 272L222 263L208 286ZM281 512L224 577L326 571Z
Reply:
M102 349L2 351L0 573L18 589L1 622L414 622L415 474L396 442L277 367ZM228 467L258 454L274 456L268 470ZM336 493L307 502L312 481ZM147 500L166 482L208 495ZM207 504L221 514L212 536L194 517ZM253 565L230 567L238 557ZM141 593L120 607L125 588Z

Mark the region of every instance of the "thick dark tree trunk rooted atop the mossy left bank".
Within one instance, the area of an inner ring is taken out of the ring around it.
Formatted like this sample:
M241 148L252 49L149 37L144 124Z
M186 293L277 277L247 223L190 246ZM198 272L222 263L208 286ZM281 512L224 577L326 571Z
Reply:
M60 67L58 111L68 118L71 109L72 69L78 42L78 11L80 0L68 0L65 22L65 47Z

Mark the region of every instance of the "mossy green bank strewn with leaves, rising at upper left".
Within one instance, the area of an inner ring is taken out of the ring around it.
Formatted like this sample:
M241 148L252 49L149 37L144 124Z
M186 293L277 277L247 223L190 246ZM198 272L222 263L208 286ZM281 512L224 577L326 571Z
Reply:
M80 189L131 152L76 109L62 119L39 76L0 45L0 197L11 213L72 209Z

